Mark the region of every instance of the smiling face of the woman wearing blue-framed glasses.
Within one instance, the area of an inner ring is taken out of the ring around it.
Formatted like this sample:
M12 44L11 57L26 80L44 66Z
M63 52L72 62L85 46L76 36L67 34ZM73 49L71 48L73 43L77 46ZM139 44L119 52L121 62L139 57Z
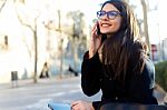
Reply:
M111 3L107 3L101 11L104 12L119 12L119 10ZM109 14L105 14L99 19L100 32L106 34L112 34L118 31L121 26L121 16L117 14L115 18L109 18Z

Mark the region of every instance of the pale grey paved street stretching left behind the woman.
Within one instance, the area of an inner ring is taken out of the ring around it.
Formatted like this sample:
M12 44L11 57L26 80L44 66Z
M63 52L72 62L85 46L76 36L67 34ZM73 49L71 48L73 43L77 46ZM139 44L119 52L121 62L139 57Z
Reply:
M98 100L100 93L88 98L80 88L80 77L39 79L0 84L0 110L50 110L48 102L70 103L73 100Z

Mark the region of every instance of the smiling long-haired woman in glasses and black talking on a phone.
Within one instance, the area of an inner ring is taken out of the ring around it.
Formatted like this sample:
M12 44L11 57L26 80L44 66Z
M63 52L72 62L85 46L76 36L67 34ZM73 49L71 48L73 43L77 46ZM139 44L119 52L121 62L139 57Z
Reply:
M97 17L82 61L81 88L89 97L101 90L101 101L75 101L72 110L97 110L107 102L157 104L155 67L130 8L121 0L109 0Z

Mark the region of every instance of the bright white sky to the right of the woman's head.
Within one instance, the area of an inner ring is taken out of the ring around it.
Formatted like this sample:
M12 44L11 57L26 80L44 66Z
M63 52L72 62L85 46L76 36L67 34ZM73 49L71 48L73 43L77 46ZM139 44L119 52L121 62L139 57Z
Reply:
M140 0L130 0L130 1L132 4L140 4ZM158 43L159 41L167 38L166 23L164 22L167 19L167 16L165 14L165 10L167 10L166 1L165 0L146 0L146 1L149 1L148 29L150 43ZM143 18L141 6L137 7L135 12L138 13L137 14L138 18Z

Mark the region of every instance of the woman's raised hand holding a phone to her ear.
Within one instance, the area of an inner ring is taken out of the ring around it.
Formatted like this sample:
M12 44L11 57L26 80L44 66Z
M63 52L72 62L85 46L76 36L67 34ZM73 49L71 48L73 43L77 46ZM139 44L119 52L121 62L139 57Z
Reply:
M97 24L98 22L94 26L91 30L91 38L89 43L89 58L92 58L101 46L101 34L97 34Z

